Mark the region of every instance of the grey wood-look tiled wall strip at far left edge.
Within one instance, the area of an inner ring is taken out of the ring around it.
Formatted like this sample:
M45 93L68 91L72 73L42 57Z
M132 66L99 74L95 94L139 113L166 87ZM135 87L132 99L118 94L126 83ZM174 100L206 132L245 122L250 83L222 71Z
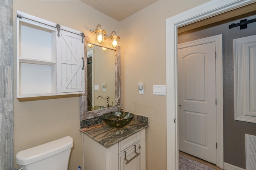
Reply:
M0 0L0 170L13 170L12 0Z

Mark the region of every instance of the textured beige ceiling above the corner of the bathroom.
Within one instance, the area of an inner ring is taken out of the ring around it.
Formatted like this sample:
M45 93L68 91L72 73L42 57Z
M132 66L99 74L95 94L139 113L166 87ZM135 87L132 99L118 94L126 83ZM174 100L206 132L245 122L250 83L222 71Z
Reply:
M121 21L158 0L81 0L96 10Z

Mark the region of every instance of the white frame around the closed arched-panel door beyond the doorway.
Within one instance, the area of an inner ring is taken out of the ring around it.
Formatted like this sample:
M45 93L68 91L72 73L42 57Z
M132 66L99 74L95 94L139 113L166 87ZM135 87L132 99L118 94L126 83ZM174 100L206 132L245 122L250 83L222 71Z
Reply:
M223 84L222 84L222 34L214 35L211 37L205 37L202 39L197 39L194 41L188 41L185 43L180 43L177 46L179 48L192 47L196 45L202 45L206 43L215 43L215 52L216 52L216 165L223 169ZM178 64L177 64L178 66ZM178 67L177 67L178 69ZM178 72L176 70L176 72ZM178 77L177 77L178 78ZM177 88L178 95L178 88ZM178 102L178 96L177 96ZM177 110L178 111L178 110ZM177 116L178 118L178 116ZM179 120L177 119L177 128ZM178 139L177 139L178 142Z

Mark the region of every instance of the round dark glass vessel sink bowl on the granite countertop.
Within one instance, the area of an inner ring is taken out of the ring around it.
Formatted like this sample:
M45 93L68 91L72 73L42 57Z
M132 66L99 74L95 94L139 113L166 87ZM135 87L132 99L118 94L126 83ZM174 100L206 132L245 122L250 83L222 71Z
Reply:
M133 114L125 111L105 113L101 116L103 121L111 127L124 127L132 120Z

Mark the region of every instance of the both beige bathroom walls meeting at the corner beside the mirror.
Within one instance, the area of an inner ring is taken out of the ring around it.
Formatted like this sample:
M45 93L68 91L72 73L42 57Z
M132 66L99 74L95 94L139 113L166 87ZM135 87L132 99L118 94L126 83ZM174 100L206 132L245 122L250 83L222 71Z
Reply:
M208 1L159 0L120 22L80 1L13 0L13 10L14 16L16 10L20 10L83 31L86 35L99 23L108 31L107 34L112 30L117 31L121 36L121 95L124 110L149 117L150 127L146 129L147 170L166 170L166 96L152 95L153 85L166 84L165 21ZM15 49L14 44L14 60ZM144 95L138 94L138 82L144 83ZM14 83L14 94L15 88ZM14 154L67 135L74 139L69 169L76 170L79 165L82 166L78 95L31 101L19 101L14 97Z

